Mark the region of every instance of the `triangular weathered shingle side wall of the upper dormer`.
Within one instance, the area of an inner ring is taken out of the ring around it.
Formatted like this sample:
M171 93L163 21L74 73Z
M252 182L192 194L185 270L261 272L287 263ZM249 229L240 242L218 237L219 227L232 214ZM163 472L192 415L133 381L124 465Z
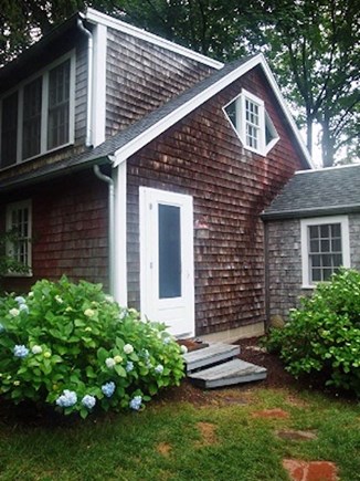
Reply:
M108 29L106 137L208 76L214 69Z

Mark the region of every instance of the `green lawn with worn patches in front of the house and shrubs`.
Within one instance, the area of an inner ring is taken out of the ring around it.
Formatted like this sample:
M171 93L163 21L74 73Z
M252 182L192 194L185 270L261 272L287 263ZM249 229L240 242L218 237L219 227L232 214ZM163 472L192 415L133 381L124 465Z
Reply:
M333 461L342 481L360 480L356 404L258 387L245 393L247 402L229 402L239 393L222 390L204 406L155 401L140 414L63 426L0 420L0 479L285 481L282 460L299 458ZM289 417L253 417L269 408ZM283 440L278 429L311 430L317 439Z

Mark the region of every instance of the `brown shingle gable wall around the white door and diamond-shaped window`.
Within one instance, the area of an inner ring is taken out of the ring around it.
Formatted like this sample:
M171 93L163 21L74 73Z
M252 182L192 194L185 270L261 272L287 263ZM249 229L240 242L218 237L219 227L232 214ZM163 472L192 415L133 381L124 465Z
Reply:
M222 107L241 88L264 98L280 140L263 157L245 150ZM194 240L197 334L265 318L264 236L260 213L300 167L268 85L256 69L207 102L128 161L129 303L140 303L139 187L193 197L194 220L210 236Z

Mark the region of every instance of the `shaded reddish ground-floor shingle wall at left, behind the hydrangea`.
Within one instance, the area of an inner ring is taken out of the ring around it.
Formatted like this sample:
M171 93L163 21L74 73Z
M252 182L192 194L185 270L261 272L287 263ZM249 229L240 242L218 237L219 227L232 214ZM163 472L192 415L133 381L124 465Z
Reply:
M38 279L62 274L106 287L107 186L92 171L83 171L9 195L1 199L0 212L4 216L6 203L25 199L32 200L33 276L7 278L4 287L24 292Z

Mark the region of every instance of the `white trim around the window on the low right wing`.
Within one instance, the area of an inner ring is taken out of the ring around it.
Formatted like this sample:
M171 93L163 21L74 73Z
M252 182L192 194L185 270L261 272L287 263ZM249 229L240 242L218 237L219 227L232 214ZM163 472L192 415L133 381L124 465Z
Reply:
M315 289L316 284L310 284L309 275L309 252L308 252L308 227L321 226L326 223L340 223L341 226L341 252L342 265L350 268L350 237L348 216L313 217L301 219L301 268L303 268L303 289Z

